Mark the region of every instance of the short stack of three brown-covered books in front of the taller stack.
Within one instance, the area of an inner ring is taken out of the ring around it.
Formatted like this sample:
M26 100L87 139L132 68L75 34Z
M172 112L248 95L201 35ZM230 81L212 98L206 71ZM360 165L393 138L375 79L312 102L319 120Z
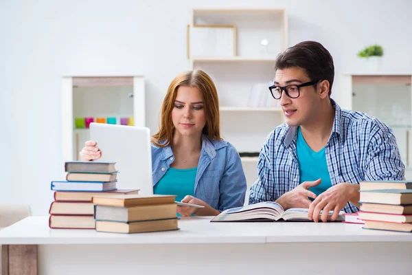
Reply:
M93 196L96 231L116 233L177 230L176 196Z

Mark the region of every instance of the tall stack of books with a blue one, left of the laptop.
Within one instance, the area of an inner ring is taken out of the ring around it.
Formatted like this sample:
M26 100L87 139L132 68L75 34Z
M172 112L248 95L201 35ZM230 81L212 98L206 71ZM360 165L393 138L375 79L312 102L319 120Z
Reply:
M94 229L95 195L138 194L139 190L117 190L115 163L66 162L66 181L52 181L54 201L49 210L50 228Z

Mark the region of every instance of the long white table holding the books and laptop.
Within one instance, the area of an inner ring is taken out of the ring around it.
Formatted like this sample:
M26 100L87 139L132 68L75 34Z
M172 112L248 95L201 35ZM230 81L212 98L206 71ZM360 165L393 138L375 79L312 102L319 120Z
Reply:
M170 232L113 234L52 230L48 217L28 217L1 230L0 244L35 247L41 275L412 274L409 233L348 223L210 219L183 218L181 229Z

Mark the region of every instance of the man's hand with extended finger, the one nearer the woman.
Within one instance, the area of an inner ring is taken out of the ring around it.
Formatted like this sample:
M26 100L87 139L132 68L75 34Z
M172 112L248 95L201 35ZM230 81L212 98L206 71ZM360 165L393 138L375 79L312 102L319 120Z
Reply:
M289 208L309 208L310 197L316 199L317 195L314 192L310 192L308 189L313 186L317 186L321 183L321 179L315 181L304 181L299 186L296 186L293 190L284 193L276 200L284 210Z

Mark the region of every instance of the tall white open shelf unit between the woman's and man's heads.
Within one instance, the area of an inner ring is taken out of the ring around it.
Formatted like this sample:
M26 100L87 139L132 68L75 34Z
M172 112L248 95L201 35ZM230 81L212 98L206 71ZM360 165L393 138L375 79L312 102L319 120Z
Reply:
M189 28L199 25L236 28L233 56L190 56L189 42L187 54L190 69L203 69L214 80L222 136L239 152L259 152L268 133L284 122L282 109L268 87L275 76L276 57L288 45L287 21L284 9L192 10ZM242 161L257 162L257 159Z

